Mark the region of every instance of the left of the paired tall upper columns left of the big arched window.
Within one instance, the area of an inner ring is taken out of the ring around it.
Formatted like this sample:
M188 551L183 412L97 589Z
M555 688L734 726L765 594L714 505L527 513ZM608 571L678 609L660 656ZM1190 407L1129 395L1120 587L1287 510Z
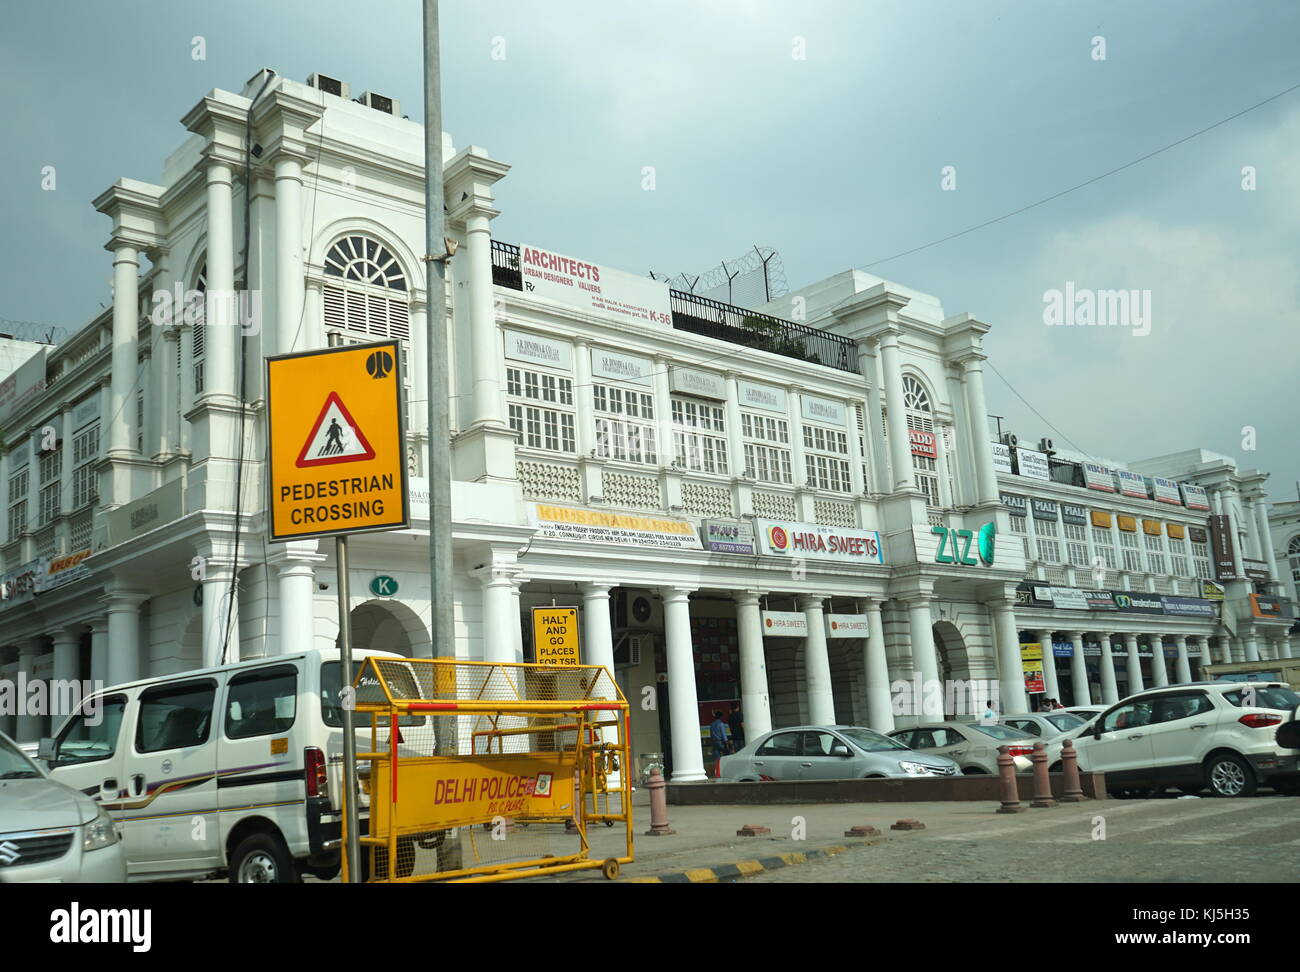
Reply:
M204 314L203 398L235 398L238 329L234 326L234 214L231 174L225 162L208 162L208 291ZM116 338L114 338L116 339ZM134 365L134 360L131 363ZM114 409L116 411L116 409ZM134 415L134 413L133 413Z

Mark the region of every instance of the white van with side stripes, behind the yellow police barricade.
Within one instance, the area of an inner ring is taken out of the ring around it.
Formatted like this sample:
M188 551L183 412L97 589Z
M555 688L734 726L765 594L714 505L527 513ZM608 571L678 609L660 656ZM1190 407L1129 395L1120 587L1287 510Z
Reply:
M398 658L359 651L354 672L368 655ZM104 689L42 758L114 819L130 881L329 880L339 871L341 667L337 650L317 650ZM369 748L364 716L356 735Z

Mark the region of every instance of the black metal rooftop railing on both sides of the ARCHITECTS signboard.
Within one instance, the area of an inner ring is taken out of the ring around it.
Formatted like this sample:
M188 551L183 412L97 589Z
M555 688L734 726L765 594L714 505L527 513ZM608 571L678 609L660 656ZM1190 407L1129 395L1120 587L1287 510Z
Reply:
M516 244L491 242L491 281L511 290L524 288ZM849 338L682 290L670 291L670 299L672 326L679 330L841 372L858 370L857 348Z

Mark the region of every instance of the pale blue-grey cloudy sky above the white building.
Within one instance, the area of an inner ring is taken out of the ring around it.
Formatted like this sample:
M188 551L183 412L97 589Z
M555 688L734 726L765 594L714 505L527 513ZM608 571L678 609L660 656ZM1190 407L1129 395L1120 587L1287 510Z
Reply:
M417 0L51 0L5 18L9 321L75 327L109 300L91 200L157 181L208 90L318 70L422 113ZM792 288L866 268L993 325L989 407L1022 439L1118 460L1199 446L1296 496L1300 90L890 257L1300 83L1300 5L443 0L442 31L445 127L515 166L500 239L638 273L757 243ZM1044 295L1067 286L1149 291L1149 334L1046 326Z

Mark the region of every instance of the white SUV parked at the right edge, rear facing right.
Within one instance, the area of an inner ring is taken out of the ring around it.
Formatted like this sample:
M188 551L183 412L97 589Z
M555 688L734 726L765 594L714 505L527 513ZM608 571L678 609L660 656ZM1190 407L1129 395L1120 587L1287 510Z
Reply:
M1260 784L1300 795L1300 750L1277 741L1300 697L1282 682L1191 682L1130 695L1079 733L1079 768L1113 797L1166 786L1249 797Z

